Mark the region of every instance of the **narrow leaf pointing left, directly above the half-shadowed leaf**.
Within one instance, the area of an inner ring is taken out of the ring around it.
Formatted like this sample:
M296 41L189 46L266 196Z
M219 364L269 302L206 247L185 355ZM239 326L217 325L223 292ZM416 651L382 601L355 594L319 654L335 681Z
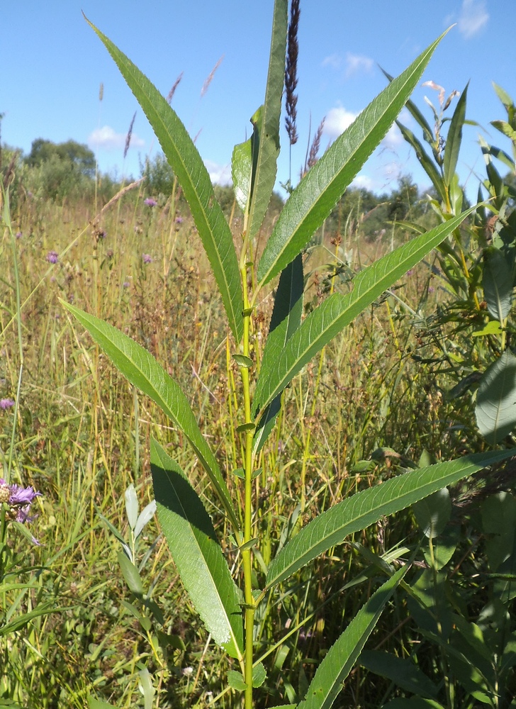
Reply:
M165 372L152 354L147 352L145 347L138 345L138 342L120 333L120 330L113 328L113 325L108 325L69 303L61 302L79 320L79 323L84 325L91 337L130 383L152 398L163 413L181 429L206 469L234 529L238 530L240 524L232 506L228 487L179 384L176 384L172 376Z

